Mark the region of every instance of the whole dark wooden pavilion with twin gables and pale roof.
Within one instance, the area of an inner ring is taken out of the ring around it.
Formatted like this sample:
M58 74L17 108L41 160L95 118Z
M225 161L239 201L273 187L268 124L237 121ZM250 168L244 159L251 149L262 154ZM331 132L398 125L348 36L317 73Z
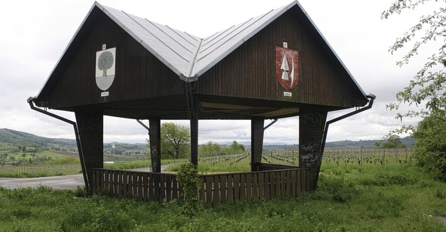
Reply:
M250 120L252 172L202 177L202 198L223 202L314 190L328 111L355 109L350 116L373 100L298 1L206 38L95 2L28 102L72 123L87 189L146 200L180 191L174 175L160 173L161 120L190 120L194 164L199 120ZM47 109L72 111L76 122ZM102 169L103 116L148 119L153 172ZM299 167L263 164L264 121L291 116L299 116Z

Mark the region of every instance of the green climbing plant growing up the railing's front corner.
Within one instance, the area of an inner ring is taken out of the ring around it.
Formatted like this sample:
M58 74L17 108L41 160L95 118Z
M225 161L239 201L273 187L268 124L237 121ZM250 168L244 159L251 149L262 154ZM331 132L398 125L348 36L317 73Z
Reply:
M183 213L194 216L199 210L199 190L201 180L198 177L198 169L191 162L181 164L176 175L184 197Z

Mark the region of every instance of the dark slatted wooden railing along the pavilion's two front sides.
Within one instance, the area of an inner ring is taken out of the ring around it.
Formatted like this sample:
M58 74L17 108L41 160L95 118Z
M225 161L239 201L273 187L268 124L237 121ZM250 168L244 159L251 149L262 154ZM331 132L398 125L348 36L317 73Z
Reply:
M271 165L271 164L270 164ZM219 173L200 175L201 202L216 206L239 199L273 199L277 196L298 196L309 191L309 170L293 169L255 171L245 173ZM141 201L171 201L181 196L176 175L94 169L93 194L135 198Z

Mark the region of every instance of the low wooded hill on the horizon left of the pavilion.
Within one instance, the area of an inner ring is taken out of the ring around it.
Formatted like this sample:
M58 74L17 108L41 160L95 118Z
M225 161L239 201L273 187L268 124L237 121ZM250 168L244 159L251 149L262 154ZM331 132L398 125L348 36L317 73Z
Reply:
M20 146L76 146L75 139L50 139L17 130L0 129L0 143Z

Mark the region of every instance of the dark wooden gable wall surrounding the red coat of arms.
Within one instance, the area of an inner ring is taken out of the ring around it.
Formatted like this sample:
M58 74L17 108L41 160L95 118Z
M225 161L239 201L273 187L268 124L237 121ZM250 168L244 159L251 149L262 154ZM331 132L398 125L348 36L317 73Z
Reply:
M299 52L299 79L290 91L292 97L284 96L285 89L275 77L275 46L282 47L282 40ZM289 10L201 75L197 93L341 108L353 107L355 99L366 104L347 78Z

